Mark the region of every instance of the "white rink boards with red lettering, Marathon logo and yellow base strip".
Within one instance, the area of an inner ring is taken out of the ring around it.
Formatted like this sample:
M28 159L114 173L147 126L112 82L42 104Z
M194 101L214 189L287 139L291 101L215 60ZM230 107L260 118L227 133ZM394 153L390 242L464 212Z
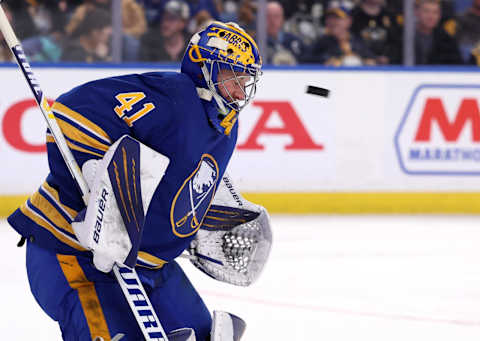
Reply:
M33 69L54 99L96 78L158 68ZM0 73L4 216L43 182L48 165L45 124L24 80L15 67ZM241 113L229 173L273 212L480 213L479 75L469 68L267 68ZM308 85L330 96L306 94Z

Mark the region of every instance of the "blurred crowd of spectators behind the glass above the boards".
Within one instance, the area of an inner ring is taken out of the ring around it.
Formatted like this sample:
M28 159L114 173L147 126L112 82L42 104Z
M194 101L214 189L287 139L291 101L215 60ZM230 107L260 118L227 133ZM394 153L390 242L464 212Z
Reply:
M120 0L124 62L178 62L212 20L256 35L256 0ZM6 0L31 61L112 60L112 0ZM415 65L480 66L480 0L416 0ZM403 0L276 0L266 7L267 64L403 62ZM1 33L0 33L0 38ZM0 62L11 55L3 39Z

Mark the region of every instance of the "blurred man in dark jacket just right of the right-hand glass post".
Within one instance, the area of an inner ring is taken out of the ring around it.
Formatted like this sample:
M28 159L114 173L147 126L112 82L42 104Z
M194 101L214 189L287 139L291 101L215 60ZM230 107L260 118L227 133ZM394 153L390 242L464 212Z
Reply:
M439 25L438 0L419 0L415 8L415 64L463 64L457 41Z

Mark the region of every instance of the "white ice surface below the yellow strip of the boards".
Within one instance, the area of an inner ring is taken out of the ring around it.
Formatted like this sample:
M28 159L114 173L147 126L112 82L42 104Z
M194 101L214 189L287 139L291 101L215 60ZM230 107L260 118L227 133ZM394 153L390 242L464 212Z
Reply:
M246 320L242 341L480 340L480 217L272 220L270 262L249 288L179 260L210 309ZM30 294L17 241L1 222L1 338L61 340Z

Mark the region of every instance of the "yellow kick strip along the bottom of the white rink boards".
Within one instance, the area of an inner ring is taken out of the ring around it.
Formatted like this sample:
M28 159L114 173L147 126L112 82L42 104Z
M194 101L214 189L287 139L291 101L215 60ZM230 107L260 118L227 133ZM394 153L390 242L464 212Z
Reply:
M479 214L479 193L243 193L270 213L332 214ZM0 196L6 217L28 196Z

